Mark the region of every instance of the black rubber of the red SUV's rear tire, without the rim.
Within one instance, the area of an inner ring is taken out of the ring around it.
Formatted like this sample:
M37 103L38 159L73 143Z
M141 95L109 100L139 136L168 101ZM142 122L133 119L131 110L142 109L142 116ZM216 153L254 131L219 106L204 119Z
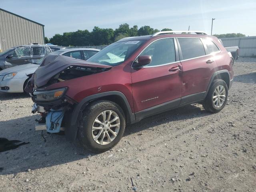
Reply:
M216 107L213 103L213 100L212 100L212 97L214 95L214 90L219 86L219 85L222 85L224 86L225 88L225 92L226 92L226 97L225 97L225 100L224 100L224 103L222 104L222 106L220 107ZM211 113L218 113L220 112L226 102L227 102L227 99L228 99L228 86L226 84L226 82L224 80L221 80L221 79L216 79L212 82L212 85L210 86L210 89L208 91L208 94L203 102L203 107L206 111L208 112L211 112Z

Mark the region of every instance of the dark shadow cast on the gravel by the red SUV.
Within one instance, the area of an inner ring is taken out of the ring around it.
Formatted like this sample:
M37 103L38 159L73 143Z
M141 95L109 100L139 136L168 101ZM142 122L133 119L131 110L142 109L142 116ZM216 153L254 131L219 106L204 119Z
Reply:
M167 122L208 115L210 115L210 113L201 110L198 104L184 106L151 116L136 124L128 125L124 137ZM82 160L87 158L89 154L92 156L96 155L88 150L84 150L78 141L70 143L66 140L65 136L58 134L47 134L44 131L46 138L46 142L44 142L40 135L41 132L34 130L34 120L36 118L38 118L38 116L27 116L0 122L1 137L30 142L17 149L0 153L0 168L3 168L3 170L0 170L0 175L14 174L15 176L19 172L28 171L28 169L36 170L44 167L57 166L76 160ZM90 161L83 161L83 164L89 166Z

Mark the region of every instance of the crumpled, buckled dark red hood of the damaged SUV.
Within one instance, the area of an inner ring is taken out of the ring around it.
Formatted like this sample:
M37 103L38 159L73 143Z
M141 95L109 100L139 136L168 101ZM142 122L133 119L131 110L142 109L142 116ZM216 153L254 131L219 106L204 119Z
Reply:
M34 84L36 87L44 86L53 76L70 66L111 68L109 65L92 63L62 55L48 54L44 57L44 60L42 61L42 64L39 66L39 68L34 72Z

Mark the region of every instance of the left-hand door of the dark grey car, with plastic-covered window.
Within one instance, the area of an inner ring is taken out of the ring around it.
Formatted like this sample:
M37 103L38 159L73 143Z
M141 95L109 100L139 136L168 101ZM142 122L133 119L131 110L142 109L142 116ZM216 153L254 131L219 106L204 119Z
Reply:
M8 54L4 60L4 66L6 68L17 65L24 65L31 63L32 49L30 46L24 46L16 48L13 52Z

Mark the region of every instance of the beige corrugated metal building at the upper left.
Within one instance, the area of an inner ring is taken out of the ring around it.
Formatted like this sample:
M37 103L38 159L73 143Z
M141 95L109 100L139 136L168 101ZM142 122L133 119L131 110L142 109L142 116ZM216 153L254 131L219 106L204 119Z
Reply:
M44 44L44 25L0 8L0 52L30 43Z

